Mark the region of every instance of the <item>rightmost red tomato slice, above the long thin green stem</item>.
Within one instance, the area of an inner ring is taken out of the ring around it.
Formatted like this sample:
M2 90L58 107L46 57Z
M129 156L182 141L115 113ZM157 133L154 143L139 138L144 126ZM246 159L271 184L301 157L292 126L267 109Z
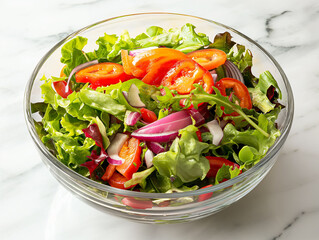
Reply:
M249 91L245 84L234 78L222 78L216 83L216 87L220 93L226 96L226 89L232 88L236 97L240 100L240 106L242 108L251 109L252 103Z

